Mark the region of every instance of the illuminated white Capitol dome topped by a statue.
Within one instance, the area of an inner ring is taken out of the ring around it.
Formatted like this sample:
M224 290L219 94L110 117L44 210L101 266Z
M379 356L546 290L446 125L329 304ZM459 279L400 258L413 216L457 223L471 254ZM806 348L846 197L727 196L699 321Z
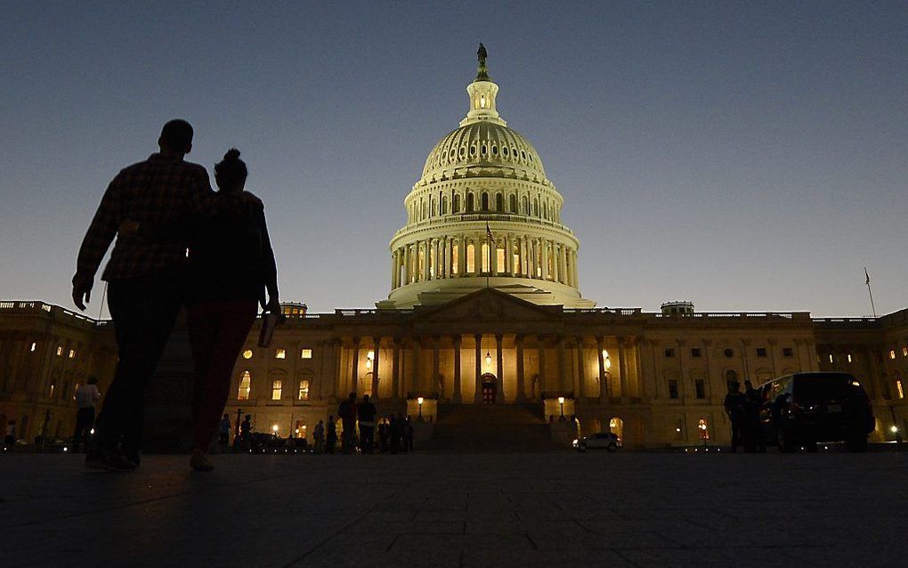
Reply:
M390 241L391 292L377 305L442 304L491 287L535 304L593 307L577 289L579 241L533 144L498 115L479 45L469 110L429 152Z

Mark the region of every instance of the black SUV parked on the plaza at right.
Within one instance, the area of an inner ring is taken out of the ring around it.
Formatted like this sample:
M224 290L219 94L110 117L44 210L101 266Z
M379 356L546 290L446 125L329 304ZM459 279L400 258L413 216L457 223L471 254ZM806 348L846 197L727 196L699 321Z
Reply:
M795 373L757 387L763 397L761 433L779 451L804 447L816 451L818 442L848 444L852 452L867 449L873 432L873 408L864 387L847 373Z

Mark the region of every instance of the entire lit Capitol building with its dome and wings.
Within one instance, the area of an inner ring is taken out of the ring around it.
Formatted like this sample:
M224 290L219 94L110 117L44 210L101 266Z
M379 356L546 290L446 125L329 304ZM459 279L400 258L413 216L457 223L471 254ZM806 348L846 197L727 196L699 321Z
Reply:
M325 314L283 304L287 321L270 347L257 346L253 328L225 412L302 437L356 393L380 414L421 417L429 446L482 436L544 445L539 433L569 443L607 430L628 449L710 446L729 443L729 383L837 370L870 395L872 440L908 428L908 309L816 319L667 302L648 313L583 297L582 235L562 224L571 188L556 188L499 114L498 89L480 45L466 115L403 199L390 274L376 274L388 278L388 297ZM54 432L70 435L75 384L95 374L104 391L113 377L110 328L41 302L0 303L0 414L25 423L27 437L49 410ZM160 371L174 368L165 360Z

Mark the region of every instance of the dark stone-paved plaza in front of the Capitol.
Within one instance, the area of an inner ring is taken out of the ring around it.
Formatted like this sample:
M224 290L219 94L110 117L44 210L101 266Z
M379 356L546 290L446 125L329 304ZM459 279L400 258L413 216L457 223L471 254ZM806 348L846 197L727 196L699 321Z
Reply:
M908 453L0 455L0 566L904 566Z

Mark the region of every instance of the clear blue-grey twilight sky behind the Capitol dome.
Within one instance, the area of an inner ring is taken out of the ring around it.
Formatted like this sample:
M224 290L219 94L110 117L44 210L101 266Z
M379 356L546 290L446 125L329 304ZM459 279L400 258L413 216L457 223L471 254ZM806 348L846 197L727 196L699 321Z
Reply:
M104 187L173 117L262 197L282 300L371 307L479 41L580 238L655 311L908 307L908 3L0 4L0 299L72 308ZM97 316L102 285L88 314ZM106 310L104 310L106 316Z

